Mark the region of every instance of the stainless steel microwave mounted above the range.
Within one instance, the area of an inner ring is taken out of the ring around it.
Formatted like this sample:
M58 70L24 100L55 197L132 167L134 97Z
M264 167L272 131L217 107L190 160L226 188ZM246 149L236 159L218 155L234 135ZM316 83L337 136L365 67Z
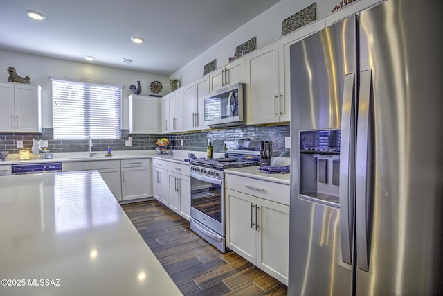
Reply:
M204 97L205 125L217 128L246 124L246 85L237 83Z

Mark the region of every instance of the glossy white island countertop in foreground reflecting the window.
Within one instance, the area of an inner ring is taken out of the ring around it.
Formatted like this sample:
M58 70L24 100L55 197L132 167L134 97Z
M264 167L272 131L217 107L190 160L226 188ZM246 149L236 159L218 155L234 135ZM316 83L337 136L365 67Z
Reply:
M0 241L0 295L181 295L96 171L0 177Z

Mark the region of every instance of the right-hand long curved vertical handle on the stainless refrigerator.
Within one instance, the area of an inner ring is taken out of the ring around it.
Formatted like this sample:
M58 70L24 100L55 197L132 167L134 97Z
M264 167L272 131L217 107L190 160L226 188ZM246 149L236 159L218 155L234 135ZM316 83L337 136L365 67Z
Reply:
M356 139L356 252L357 267L369 270L369 205L372 176L372 71L360 73L359 116Z

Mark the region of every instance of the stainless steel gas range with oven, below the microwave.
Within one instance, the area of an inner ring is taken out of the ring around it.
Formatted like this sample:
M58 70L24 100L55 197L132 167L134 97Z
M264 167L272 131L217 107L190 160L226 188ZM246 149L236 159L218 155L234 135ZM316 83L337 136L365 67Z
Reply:
M224 169L258 166L263 141L224 141L224 158L192 159L190 228L226 252Z

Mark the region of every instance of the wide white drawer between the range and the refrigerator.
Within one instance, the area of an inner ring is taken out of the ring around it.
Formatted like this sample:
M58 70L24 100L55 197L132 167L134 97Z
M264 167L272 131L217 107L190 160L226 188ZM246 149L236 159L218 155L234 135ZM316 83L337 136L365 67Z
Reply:
M289 185L226 174L225 188L289 205Z

